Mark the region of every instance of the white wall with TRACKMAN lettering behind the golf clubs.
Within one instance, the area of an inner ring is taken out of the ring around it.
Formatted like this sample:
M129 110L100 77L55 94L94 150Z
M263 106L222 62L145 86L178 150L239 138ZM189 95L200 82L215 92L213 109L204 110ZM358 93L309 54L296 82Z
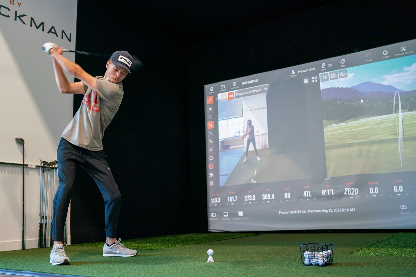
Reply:
M73 96L59 93L51 59L41 47L55 42L75 49L76 20L76 0L0 0L0 162L22 163L15 137L25 140L25 164L56 159ZM65 56L75 59L72 53ZM26 248L37 247L39 174L39 168L25 169ZM0 189L0 251L21 249L22 168L1 165Z

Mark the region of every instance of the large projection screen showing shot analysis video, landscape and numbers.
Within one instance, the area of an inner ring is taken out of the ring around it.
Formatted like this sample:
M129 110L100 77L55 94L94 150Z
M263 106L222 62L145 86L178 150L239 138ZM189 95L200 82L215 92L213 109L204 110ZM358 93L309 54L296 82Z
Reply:
M210 231L416 228L416 40L204 86Z

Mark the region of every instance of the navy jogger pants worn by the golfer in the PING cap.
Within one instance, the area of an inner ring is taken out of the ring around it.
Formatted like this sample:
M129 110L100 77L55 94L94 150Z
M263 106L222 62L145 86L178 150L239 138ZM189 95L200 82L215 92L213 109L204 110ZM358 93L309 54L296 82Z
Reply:
M72 185L77 175L79 164L97 183L104 199L105 233L109 238L116 238L119 220L121 194L114 181L113 174L102 151L91 151L69 143L61 137L57 151L59 186L53 200L52 237L62 241Z

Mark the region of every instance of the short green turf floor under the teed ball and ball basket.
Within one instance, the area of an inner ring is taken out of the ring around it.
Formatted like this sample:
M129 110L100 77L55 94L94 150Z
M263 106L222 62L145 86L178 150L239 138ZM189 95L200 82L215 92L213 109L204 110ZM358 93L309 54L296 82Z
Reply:
M135 257L103 257L101 247L69 245L70 265L50 265L51 248L35 248L0 252L0 268L78 276L414 276L415 257L348 255L394 234L268 233L139 250ZM302 264L299 245L310 242L334 244L331 265ZM207 262L208 249L214 262Z

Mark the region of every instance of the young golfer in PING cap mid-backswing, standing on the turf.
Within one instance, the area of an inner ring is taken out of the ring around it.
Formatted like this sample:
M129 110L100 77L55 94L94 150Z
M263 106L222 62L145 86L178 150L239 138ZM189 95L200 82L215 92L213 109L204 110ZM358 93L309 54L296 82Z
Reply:
M93 77L81 66L62 56L62 47L47 42L42 49L52 59L55 80L61 93L84 94L77 113L62 133L58 145L59 187L53 200L54 242L50 263L69 264L69 257L64 251L66 244L62 243L62 240L78 166L92 176L104 199L107 238L103 256L134 256L137 254L136 250L124 247L120 243L121 238L116 240L121 194L106 160L106 154L102 150L104 130L119 109L124 94L121 81L131 73L133 58L126 51L116 51L106 63L104 76ZM81 81L69 83L64 71Z

